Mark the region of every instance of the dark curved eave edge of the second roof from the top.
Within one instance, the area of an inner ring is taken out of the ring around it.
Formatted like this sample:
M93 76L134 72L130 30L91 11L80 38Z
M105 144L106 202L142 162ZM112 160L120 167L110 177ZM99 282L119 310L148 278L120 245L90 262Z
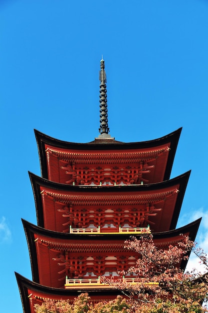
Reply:
M188 171L178 177L172 178L170 180L166 180L163 182L153 183L153 184L145 184L145 185L122 185L122 186L72 186L72 185L66 185L61 183L52 182L50 180L47 180L45 178L39 177L37 175L34 175L32 173L29 173L32 188L33 188L33 194L35 199L35 206L36 206L36 214L37 214L37 223L41 227L45 227L44 225L44 211L43 211L43 204L42 204L42 198L40 194L40 186L43 188L50 188L53 190L56 190L56 192L72 192L72 193L82 193L82 194L88 194L91 195L99 194L115 194L115 193L131 193L132 192L145 192L148 191L157 191L157 190L163 190L164 188L168 188L174 185L180 185L180 192L178 193L176 205L175 208L173 208L174 213L172 215L172 219L170 222L170 228L174 229L176 227L179 213L181 210L184 194L186 191L186 186L189 180L191 171ZM166 229L168 230L168 229Z

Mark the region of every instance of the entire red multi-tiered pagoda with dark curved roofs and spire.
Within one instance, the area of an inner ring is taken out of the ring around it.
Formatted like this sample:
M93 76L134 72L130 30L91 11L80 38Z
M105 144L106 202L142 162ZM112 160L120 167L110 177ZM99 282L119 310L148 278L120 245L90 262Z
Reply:
M181 128L158 139L120 142L109 134L104 60L100 61L100 135L66 142L35 130L41 177L29 173L37 225L22 220L32 281L16 273L24 313L44 299L88 292L93 301L119 294L100 276L136 263L130 235L152 233L156 245L195 240L198 219L176 229L190 171L170 179ZM187 260L179 266L185 268ZM123 277L135 282L135 273Z

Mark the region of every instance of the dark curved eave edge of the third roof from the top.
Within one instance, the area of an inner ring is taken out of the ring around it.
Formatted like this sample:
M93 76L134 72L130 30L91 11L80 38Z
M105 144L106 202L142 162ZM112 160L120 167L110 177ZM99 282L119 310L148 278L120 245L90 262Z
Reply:
M154 233L154 239L157 242L174 240L174 238L178 237L181 233L189 235L191 240L195 240L197 231L201 222L201 218L197 219L196 221L180 227L178 229L165 231L165 232L158 232ZM39 282L39 272L38 272L38 261L37 261L37 251L35 245L35 236L48 238L48 241L53 240L53 242L62 242L69 244L69 242L73 242L76 240L77 242L83 243L84 241L90 243L97 243L99 242L124 242L126 239L129 238L128 234L69 234L63 232L57 232L52 230L47 230L45 228L33 225L26 220L22 219L22 223L24 226L28 248L29 248L29 255L30 255L30 262L31 262L31 269L32 269L32 278L35 282ZM141 234L135 235L135 237L141 237ZM172 238L172 239L171 239ZM170 244L170 243L169 243ZM187 260L183 260L181 263L181 267L184 269L186 267Z

